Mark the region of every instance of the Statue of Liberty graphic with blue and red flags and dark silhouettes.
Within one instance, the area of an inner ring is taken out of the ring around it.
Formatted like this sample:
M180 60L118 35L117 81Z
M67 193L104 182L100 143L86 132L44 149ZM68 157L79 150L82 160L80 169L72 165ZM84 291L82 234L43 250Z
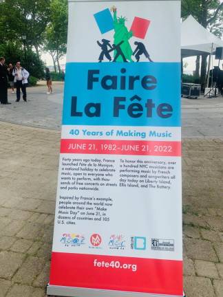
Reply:
M113 32L112 40L103 38L96 41L98 50L100 50L98 62L140 62L140 56L145 56L147 60L153 62L147 52L146 45L142 41L136 40L143 40L147 36L151 23L149 19L134 17L130 29L128 29L127 18L120 15L115 6L112 6L110 10L105 8L96 12L94 19L100 34ZM135 48L132 48L133 45L129 40L134 41Z

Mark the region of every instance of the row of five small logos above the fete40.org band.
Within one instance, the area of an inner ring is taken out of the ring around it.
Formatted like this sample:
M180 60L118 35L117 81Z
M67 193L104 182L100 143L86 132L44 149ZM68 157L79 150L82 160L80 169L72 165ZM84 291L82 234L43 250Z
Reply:
M150 239L151 250L160 250L165 252L174 252L173 239ZM65 246L81 246L86 244L85 236L76 233L64 233L61 243ZM98 233L94 233L89 237L89 248L101 248L103 239ZM107 240L107 245L111 250L125 250L129 244L125 236L112 234ZM142 236L130 237L131 250L147 250L147 238Z

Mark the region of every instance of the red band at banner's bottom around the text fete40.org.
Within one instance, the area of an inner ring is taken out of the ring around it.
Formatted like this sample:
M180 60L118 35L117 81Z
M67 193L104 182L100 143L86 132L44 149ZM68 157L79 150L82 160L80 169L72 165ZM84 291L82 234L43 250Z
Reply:
M97 267L95 259L137 270ZM50 285L182 296L182 261L52 252Z

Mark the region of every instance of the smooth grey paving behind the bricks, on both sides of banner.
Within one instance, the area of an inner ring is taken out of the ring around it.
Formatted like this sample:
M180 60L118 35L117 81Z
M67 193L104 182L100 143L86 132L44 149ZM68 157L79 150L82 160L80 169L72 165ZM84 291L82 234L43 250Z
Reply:
M0 106L0 120L47 129L61 129L63 83L53 83L54 94L47 95L45 82L28 88L28 102L14 102ZM182 98L182 137L223 137L223 98Z

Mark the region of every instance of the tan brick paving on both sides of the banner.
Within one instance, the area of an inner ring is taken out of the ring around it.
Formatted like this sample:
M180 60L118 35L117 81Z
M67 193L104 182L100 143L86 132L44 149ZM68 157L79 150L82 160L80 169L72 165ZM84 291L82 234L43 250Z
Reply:
M0 122L0 297L45 296L60 132ZM184 289L223 296L223 139L183 142Z

